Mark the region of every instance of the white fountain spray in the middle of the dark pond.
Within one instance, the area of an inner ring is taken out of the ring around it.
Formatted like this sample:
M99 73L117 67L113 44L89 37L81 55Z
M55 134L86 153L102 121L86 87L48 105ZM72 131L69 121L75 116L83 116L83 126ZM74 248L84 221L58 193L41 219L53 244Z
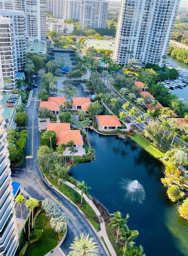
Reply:
M122 188L127 191L125 197L140 204L145 199L144 187L137 180L123 180Z

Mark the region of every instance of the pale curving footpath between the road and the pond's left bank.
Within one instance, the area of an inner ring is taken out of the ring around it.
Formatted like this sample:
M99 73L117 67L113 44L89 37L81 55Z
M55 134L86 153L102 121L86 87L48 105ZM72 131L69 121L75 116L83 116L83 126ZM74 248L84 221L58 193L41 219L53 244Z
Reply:
M76 190L81 195L81 190L78 189L78 188L75 189L75 186L72 183L70 183L68 181L65 181L64 183L66 185L70 186L71 188L73 188L74 190ZM116 256L116 252L115 252L115 250L114 250L114 248L113 248L112 244L110 243L110 240L107 236L105 221L104 221L102 215L100 214L98 208L94 205L94 203L87 197L87 195L83 194L83 198L92 207L92 209L94 210L94 212L96 213L96 215L97 215L97 217L100 221L101 230L99 232L97 232L99 239L100 239L101 236L103 236L103 238L105 240L105 243L107 244L107 247L110 251L110 254L112 256Z

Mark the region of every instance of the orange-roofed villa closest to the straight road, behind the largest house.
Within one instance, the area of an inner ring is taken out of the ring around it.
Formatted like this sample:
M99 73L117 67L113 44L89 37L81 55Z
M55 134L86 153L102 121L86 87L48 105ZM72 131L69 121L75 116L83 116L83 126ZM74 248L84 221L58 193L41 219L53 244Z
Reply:
M65 97L48 97L48 101L40 101L39 107L46 107L57 114L60 111L60 105L64 105L66 100Z

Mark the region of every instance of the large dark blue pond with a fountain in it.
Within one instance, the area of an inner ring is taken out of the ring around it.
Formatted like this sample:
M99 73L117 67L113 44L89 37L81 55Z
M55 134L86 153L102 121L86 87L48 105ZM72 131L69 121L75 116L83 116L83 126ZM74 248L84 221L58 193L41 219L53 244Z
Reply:
M73 167L72 175L84 180L110 213L130 214L128 226L139 231L136 244L143 245L147 256L187 256L188 223L161 184L163 164L129 138L94 131L88 138L96 160Z

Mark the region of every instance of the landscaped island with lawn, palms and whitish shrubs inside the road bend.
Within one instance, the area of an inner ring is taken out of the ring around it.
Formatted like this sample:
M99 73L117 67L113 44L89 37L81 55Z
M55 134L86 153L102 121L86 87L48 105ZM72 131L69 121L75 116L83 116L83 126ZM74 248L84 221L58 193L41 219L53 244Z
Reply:
M28 216L25 222L25 234L24 229L20 234L17 250L19 256L44 256L53 250L67 234L68 217L61 212L59 206L48 198L42 203L38 203L37 200L35 202L38 206L33 210L33 214L30 212L30 218ZM29 220L30 225L28 225Z

